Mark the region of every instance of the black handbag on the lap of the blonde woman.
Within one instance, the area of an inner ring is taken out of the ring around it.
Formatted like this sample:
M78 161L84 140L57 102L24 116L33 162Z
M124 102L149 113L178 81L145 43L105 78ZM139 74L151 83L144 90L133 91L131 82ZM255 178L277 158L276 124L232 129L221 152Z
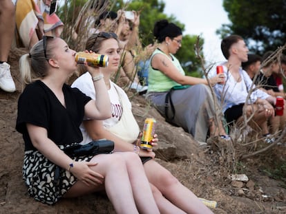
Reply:
M114 149L114 142L111 140L93 140L86 145L73 145L63 149L70 158L81 156L96 156L98 154L112 153Z

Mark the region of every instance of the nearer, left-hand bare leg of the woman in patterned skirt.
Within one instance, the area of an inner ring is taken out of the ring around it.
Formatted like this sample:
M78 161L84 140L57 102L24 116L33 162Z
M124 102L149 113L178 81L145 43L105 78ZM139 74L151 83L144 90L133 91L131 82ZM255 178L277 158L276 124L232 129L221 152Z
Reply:
M66 193L65 197L77 197L102 190L105 187L108 198L111 200L116 213L138 213L133 199L125 160L122 156L117 154L98 155L90 160L90 162L99 163L97 166L92 167L92 169L104 175L104 186L86 186L81 181L77 181Z

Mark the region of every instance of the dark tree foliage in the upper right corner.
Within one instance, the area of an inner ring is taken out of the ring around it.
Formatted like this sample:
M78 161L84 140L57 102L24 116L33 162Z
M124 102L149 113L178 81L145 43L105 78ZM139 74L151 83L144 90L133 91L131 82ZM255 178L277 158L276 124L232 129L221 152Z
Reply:
M262 55L284 45L286 32L285 0L224 0L231 24L222 25L217 33L242 36L251 52Z

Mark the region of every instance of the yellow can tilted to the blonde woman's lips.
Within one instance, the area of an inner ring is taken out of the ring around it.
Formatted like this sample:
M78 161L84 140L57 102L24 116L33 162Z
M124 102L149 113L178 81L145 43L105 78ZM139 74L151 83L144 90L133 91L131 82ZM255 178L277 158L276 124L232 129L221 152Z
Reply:
M108 56L95 53L77 52L75 54L77 64L88 63L92 67L106 67L108 65Z

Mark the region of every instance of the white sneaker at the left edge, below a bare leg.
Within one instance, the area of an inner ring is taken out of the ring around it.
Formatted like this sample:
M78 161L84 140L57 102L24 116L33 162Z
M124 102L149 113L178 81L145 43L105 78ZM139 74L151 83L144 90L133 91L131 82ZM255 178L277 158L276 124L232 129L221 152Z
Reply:
M8 63L0 64L0 88L6 92L15 92L16 86L10 72Z

